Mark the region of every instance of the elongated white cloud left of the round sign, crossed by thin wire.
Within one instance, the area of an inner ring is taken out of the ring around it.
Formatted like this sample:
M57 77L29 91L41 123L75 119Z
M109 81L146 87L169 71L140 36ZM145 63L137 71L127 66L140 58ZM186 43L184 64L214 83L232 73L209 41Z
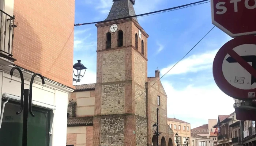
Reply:
M218 50L208 51L203 54L194 54L188 58L182 59L172 70L170 70L175 64L169 65L167 68L161 70L162 73L173 75L182 74L189 72L199 72L202 70L207 70L212 68L212 62Z

